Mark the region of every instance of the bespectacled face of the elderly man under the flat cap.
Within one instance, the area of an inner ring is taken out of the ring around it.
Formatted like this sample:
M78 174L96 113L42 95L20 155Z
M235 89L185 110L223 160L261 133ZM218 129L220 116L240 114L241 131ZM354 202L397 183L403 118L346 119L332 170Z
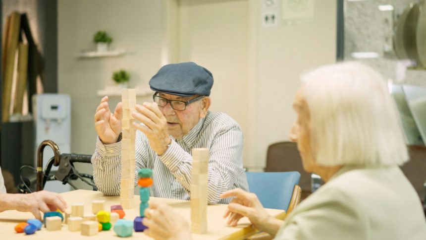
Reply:
M197 96L181 97L176 95L170 95L166 93L159 93L160 97L168 100L178 101L189 101L196 98ZM205 97L209 98L209 97ZM210 98L209 98L210 100ZM189 131L197 125L200 118L204 118L207 113L207 109L203 104L204 100L193 102L186 106L185 110L174 110L168 103L164 107L159 109L167 120L167 130L170 135L176 139L181 139L183 136L189 133Z

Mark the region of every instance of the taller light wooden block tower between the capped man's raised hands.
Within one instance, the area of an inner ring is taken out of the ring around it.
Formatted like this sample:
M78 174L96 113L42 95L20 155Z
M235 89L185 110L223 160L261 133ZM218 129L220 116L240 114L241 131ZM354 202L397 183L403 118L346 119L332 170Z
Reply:
M136 90L123 89L121 95L123 117L121 119L121 190L120 201L124 209L132 208L135 189L135 129L132 112L136 106Z

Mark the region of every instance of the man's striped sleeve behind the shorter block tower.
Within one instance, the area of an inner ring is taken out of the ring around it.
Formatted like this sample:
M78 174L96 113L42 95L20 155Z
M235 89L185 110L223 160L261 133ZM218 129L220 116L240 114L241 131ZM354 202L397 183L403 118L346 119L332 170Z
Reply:
M214 136L208 165L208 203L217 203L219 195L235 188L244 172L242 163L243 132L237 124L224 127ZM188 190L191 189L192 155L172 141L161 162ZM230 199L228 199L228 202Z

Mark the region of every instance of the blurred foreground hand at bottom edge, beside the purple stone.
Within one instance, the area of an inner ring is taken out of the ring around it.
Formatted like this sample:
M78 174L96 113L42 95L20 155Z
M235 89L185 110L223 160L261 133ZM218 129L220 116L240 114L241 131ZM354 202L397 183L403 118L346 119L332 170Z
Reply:
M143 224L148 227L144 231L153 239L189 240L191 233L186 220L165 204L150 200L150 207L145 209Z

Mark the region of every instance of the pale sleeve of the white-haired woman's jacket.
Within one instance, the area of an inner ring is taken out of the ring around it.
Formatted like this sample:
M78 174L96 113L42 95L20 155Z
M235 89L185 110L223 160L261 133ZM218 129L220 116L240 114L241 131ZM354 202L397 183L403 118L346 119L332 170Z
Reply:
M326 197L313 195L303 211L296 208L275 239L370 239L368 219L359 204L336 189L328 189L326 194Z

